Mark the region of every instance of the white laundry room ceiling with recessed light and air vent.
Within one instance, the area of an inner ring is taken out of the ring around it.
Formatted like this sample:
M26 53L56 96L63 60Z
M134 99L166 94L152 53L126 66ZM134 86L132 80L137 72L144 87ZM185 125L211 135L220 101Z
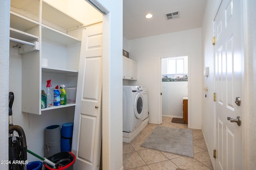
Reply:
M123 35L138 39L199 28L207 0L123 0ZM165 14L180 11L180 18L166 20ZM151 13L153 18L146 19Z

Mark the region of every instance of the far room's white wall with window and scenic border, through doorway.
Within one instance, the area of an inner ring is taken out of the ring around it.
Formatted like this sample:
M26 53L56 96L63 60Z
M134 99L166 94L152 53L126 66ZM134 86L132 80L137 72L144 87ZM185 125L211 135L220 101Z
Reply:
M161 58L162 116L183 118L188 97L188 55Z

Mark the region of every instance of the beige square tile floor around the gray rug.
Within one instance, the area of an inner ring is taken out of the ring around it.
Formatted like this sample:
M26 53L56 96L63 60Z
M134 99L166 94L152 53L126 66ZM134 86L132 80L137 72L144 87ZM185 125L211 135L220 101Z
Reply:
M124 170L213 170L201 130L192 129L194 158L140 147L156 126L188 128L171 121L172 117L162 117L162 125L149 123L130 143L123 143Z

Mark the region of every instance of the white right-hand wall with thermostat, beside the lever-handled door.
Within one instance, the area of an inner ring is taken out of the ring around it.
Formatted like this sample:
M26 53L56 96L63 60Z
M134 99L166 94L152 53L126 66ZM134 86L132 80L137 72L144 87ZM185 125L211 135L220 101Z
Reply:
M213 36L213 19L218 5L218 1L208 0L206 5L206 12L202 23L202 69L204 66L209 67L209 76L204 77L202 86L208 87L207 97L202 96L202 131L208 146L208 152L212 160L212 165L215 167L215 160L213 158L213 150L215 148L215 103L213 101L214 89L214 54L212 47ZM209 128L211 127L211 128Z

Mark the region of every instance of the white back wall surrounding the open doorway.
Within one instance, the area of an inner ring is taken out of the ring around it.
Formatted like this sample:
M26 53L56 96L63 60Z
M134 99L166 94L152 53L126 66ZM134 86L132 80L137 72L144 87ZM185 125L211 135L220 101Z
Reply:
M138 62L138 80L130 81L130 85L137 84L148 88L149 122L160 124L160 59L178 55L188 55L189 127L201 129L202 51L200 28L130 40L129 56Z

